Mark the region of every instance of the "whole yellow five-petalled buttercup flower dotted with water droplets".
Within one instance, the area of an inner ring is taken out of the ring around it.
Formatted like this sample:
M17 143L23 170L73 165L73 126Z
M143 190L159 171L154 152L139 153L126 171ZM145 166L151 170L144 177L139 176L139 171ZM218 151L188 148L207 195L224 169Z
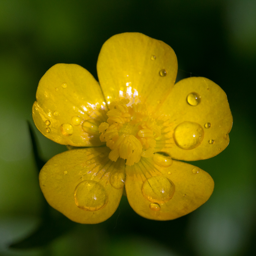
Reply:
M224 91L203 77L174 85L173 49L141 33L108 39L97 72L99 82L79 65L56 64L39 82L36 127L69 149L40 171L48 203L79 223L108 219L125 191L132 209L153 220L205 203L213 179L177 160L227 147L232 115Z

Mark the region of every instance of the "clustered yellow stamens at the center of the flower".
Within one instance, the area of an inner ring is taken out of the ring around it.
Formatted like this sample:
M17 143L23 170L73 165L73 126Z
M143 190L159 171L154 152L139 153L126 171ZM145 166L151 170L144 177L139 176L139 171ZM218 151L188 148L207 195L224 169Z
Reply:
M144 104L127 106L129 99L109 104L107 123L99 125L100 139L111 149L109 159L126 159L127 165L138 163L141 157L153 157L155 138L161 130Z

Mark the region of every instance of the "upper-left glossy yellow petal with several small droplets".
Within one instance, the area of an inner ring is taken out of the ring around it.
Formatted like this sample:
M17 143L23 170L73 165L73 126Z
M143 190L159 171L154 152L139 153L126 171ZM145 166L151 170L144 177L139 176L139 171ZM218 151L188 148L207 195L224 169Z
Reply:
M98 125L108 118L104 97L86 69L56 64L40 80L36 100L33 119L47 138L77 147L102 145Z

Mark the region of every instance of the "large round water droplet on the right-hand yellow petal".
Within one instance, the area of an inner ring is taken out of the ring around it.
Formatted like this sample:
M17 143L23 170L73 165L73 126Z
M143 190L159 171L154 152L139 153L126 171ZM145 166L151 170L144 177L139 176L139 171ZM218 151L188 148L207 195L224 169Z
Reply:
M204 130L200 124L183 122L174 130L176 145L185 150L191 150L201 144L204 138Z

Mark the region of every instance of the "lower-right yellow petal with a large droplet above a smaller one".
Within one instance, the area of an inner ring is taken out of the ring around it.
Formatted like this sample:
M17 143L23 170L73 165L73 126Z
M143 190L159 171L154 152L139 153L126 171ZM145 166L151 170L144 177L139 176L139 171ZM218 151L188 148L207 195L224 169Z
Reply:
M173 220L209 199L214 182L208 173L175 160L170 167L162 167L159 158L153 159L142 158L125 167L125 190L136 213L152 220Z

